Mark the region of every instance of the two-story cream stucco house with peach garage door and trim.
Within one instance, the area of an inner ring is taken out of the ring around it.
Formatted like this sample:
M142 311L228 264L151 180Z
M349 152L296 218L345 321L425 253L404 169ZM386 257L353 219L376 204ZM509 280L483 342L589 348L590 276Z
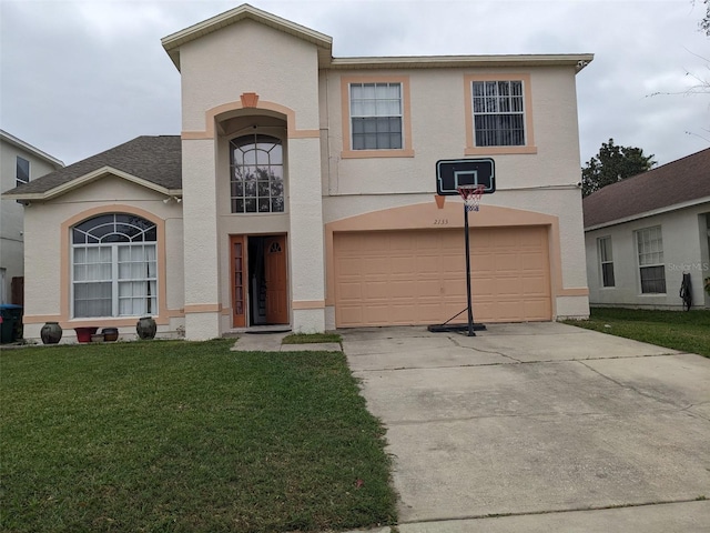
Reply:
M162 43L180 137L9 195L31 202L27 336L128 333L143 314L194 340L442 323L466 308L464 214L437 207L435 167L477 157L497 192L471 214L476 320L588 315L576 74L591 54L333 58L329 37L246 4Z

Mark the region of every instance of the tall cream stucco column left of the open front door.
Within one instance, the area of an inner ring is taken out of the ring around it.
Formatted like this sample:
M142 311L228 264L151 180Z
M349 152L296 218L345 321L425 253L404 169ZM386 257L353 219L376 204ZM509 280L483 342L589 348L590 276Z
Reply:
M220 336L215 144L182 141L185 268L185 338Z

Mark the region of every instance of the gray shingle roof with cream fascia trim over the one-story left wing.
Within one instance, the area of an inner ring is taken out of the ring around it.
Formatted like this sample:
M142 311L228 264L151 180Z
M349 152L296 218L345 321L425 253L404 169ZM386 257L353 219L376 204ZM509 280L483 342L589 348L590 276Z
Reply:
M105 152L16 187L6 192L3 198L49 200L109 174L119 175L165 194L180 194L180 135L136 137Z

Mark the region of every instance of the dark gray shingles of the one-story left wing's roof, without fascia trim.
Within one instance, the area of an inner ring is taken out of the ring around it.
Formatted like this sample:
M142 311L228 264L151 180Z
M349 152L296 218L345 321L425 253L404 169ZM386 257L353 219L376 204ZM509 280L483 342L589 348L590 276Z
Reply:
M104 167L111 167L165 189L182 189L181 153L180 135L141 135L105 152L42 175L6 194L44 193Z

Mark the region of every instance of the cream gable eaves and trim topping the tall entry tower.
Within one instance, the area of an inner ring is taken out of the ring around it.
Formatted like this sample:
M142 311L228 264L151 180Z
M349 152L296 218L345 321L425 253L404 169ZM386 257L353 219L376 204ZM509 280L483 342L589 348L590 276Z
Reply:
M331 60L331 56L333 53L332 37L320 33L304 26L296 24L290 20L282 19L275 14L267 13L266 11L256 9L248 3L243 3L230 11L225 11L216 17L212 17L211 19L164 37L161 39L161 43L170 56L170 59L172 59L175 67L178 67L178 70L180 70L180 47L244 19L254 20L275 30L283 31L284 33L288 33L297 37L298 39L311 42L318 47L318 58L322 62L327 63Z

